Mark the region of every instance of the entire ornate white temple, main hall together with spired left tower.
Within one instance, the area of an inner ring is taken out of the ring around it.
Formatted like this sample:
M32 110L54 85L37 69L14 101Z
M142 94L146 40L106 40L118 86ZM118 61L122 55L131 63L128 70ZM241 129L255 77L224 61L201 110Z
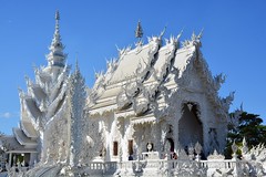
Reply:
M208 70L202 33L164 42L163 31L144 44L139 22L135 48L120 50L89 90L78 63L71 73L65 62L59 20L57 12L48 65L34 69L35 80L27 77L28 90L19 92L20 127L6 140L8 169L22 155L32 168L24 176L154 176L144 169L149 162L185 154L200 162L223 152L234 93L218 96L225 77Z

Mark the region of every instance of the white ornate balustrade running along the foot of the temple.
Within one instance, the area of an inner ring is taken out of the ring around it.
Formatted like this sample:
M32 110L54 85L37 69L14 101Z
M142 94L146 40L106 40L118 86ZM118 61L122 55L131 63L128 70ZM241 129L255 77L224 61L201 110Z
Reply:
M191 159L145 159L129 162L91 162L82 166L82 170L91 176L109 176L117 174L120 176L187 176L195 174L200 176L219 175L243 176L246 160L239 159L208 159L208 160L191 160ZM12 168L13 171L25 171L21 167ZM8 170L11 170L8 169ZM254 170L257 170L254 168ZM229 174L231 173L231 174ZM257 174L257 171L254 171ZM217 175L217 174L216 174ZM193 175L192 175L193 176Z

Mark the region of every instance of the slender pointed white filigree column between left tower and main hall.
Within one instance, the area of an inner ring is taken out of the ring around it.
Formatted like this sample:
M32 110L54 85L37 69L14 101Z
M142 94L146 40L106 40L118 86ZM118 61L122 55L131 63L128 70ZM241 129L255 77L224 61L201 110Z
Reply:
M80 162L84 160L85 150L85 124L86 119L83 115L85 105L85 85L84 79L80 73L78 62L75 71L70 77L69 91L70 104L70 157L71 167L76 167Z

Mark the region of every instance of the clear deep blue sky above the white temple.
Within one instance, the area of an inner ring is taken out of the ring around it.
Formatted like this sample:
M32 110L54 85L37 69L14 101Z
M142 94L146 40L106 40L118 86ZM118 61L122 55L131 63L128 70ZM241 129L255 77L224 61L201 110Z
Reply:
M0 131L11 134L19 122L18 87L33 66L45 65L54 31L54 12L60 10L61 35L68 63L79 59L86 84L94 70L117 56L116 46L133 45L134 30L142 21L144 37L191 38L204 28L202 52L213 75L226 74L219 95L236 91L231 111L239 107L259 114L266 123L266 1L198 0L0 0ZM146 38L144 38L146 40Z

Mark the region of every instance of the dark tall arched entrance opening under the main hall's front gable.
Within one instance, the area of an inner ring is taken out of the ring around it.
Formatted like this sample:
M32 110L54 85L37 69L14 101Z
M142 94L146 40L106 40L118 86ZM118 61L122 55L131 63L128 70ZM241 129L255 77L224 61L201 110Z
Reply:
M194 103L183 105L183 114L178 122L180 145L187 148L197 142L203 145L203 125L198 118L198 106Z

